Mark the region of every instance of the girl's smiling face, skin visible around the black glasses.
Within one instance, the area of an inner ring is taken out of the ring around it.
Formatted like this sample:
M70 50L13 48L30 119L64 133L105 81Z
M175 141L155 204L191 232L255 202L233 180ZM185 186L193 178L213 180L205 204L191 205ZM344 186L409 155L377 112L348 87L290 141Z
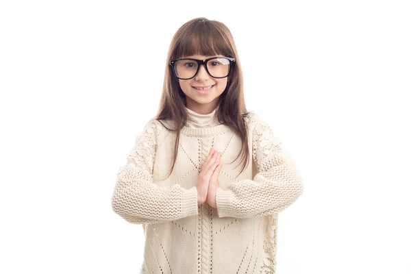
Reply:
M207 59L213 56L191 55L186 58ZM219 103L221 93L227 87L227 77L214 78L207 73L204 66L199 67L195 77L191 79L178 79L179 86L186 95L187 108L199 114L209 114ZM210 90L197 90L195 87L210 88Z

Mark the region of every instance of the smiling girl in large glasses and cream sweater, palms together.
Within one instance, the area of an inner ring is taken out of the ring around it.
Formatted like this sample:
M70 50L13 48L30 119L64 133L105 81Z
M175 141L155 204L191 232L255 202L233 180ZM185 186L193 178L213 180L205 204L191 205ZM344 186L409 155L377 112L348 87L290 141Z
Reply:
M169 48L160 108L117 173L112 208L142 224L140 273L275 273L278 212L303 192L295 163L247 112L229 29L195 18Z

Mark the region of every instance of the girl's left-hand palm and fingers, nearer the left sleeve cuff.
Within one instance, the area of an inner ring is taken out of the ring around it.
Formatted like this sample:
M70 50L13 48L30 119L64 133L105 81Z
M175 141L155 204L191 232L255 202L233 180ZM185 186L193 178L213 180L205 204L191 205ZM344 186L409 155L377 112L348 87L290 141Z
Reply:
M221 152L216 151L216 149L214 148L211 148L210 153L208 153L206 162L204 163L203 169L199 174L197 183L195 184L198 192L197 202L199 203L199 205L207 201L208 185L210 183L210 178L214 172L214 169L216 169L216 167L218 166L220 158Z

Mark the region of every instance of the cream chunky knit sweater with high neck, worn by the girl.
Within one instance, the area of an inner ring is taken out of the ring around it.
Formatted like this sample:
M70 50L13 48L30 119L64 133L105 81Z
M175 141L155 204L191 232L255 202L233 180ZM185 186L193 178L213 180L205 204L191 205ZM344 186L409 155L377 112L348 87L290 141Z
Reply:
M256 112L245 117L250 164L242 167L240 138L210 114L188 111L173 173L175 134L151 120L117 173L112 208L142 224L140 273L275 273L278 212L303 192L297 166ZM216 206L197 204L195 183L210 148L222 152ZM238 166L237 166L238 165Z

